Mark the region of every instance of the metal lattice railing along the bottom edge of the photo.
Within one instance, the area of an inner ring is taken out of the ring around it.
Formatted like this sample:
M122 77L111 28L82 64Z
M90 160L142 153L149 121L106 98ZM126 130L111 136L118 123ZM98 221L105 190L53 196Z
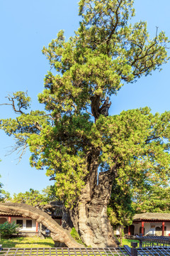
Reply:
M170 256L170 247L3 248L1 256Z

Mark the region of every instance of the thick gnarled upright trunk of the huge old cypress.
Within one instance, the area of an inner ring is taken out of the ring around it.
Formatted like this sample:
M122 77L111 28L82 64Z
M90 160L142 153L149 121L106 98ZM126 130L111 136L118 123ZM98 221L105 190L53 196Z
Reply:
M117 242L107 215L114 172L98 174L97 157L96 151L96 157L93 154L89 164L89 180L79 196L77 206L69 212L74 228L86 246L116 247Z

